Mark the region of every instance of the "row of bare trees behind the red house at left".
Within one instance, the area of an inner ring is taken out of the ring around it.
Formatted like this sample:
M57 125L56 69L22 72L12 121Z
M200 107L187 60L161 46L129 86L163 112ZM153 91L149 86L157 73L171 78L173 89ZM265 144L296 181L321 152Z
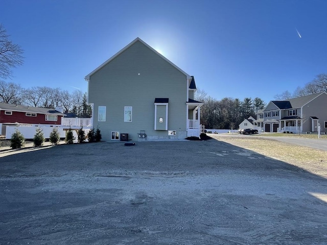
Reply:
M92 108L87 104L87 93L76 89L69 93L61 88L23 88L13 82L0 80L0 102L55 109L62 106L64 112L75 113L79 117L90 117Z

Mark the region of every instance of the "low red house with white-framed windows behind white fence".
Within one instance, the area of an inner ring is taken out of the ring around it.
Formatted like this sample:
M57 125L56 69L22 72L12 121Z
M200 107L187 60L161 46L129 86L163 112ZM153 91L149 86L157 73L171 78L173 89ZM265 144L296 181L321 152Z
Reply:
M0 103L1 134L10 125L60 125L64 115L54 109Z

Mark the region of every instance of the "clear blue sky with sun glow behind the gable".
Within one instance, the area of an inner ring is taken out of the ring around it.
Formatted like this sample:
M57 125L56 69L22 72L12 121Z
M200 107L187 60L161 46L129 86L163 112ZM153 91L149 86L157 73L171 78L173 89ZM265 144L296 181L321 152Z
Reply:
M269 102L327 73L325 0L0 0L0 22L25 50L5 81L26 88L87 91L84 77L136 37L217 100Z

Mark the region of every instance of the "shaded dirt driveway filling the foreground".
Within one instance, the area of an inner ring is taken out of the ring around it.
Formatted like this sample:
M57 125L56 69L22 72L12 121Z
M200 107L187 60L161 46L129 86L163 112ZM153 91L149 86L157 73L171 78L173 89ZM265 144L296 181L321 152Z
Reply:
M3 156L0 244L325 244L326 158L288 161L215 139Z

